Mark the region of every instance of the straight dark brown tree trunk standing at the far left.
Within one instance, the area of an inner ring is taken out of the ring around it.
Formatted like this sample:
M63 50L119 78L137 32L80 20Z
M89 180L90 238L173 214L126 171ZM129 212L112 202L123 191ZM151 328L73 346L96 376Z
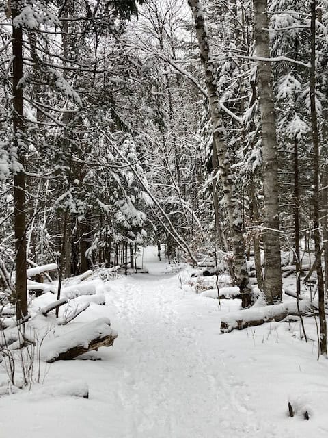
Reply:
M20 13L20 1L12 2L12 128L13 146L17 151L17 160L22 169L14 176L14 233L15 233L15 300L16 318L27 315L27 264L26 264L26 217L25 217L25 173L24 173L24 107L23 89L23 31L20 25L14 25L14 19ZM23 146L22 146L23 145Z

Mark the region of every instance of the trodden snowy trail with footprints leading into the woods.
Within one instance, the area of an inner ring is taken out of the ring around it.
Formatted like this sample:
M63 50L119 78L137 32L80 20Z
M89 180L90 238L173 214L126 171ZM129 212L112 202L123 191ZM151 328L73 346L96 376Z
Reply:
M120 332L129 339L118 388L122 437L232 437L247 430L254 436L242 386L231 373L228 383L219 350L208 345L213 334L206 339L202 321L207 303L196 306L176 275L152 274L146 266L150 275L128 279L113 298ZM229 421L228 410L238 422Z

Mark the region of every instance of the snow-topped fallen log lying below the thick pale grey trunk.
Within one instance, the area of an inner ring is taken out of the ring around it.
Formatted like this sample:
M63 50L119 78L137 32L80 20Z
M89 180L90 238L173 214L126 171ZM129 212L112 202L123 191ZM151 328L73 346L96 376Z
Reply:
M301 314L311 309L310 301L299 302ZM237 311L221 318L221 332L227 333L234 329L245 329L246 327L260 326L264 322L281 321L288 315L299 315L297 302L286 302L263 307L251 307L251 309Z

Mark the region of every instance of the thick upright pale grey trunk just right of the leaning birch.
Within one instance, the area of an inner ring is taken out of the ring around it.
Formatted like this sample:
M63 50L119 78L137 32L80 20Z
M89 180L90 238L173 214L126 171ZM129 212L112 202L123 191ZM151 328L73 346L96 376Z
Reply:
M267 0L254 0L255 46L258 57L268 59L269 18ZM264 190L264 296L269 305L282 300L282 272L279 242L279 198L275 108L271 63L258 61L258 94L262 118Z

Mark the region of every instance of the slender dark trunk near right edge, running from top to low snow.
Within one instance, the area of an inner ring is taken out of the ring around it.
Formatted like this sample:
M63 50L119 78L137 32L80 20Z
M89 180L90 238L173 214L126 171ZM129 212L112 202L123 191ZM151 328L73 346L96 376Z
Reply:
M319 136L316 116L316 0L311 2L311 70L310 70L310 107L313 141L313 236L316 255L316 274L318 276L320 353L327 355L327 324L325 315L325 287L321 265L320 229L319 229Z

